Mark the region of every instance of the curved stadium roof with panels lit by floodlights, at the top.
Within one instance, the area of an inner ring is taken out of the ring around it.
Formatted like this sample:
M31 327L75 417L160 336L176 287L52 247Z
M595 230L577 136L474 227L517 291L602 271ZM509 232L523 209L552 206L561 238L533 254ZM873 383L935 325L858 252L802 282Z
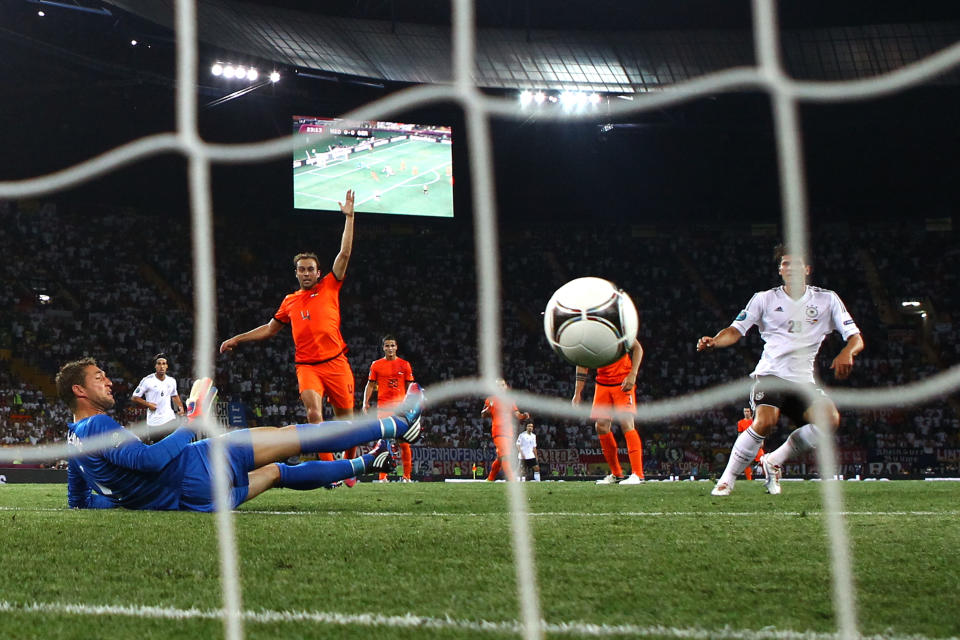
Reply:
M173 0L107 4L173 24ZM782 16L783 58L796 78L869 77L960 40L960 3L798 4ZM475 82L486 88L643 93L754 63L746 2L478 5ZM200 39L214 48L298 70L402 83L451 80L449 21L449 2L440 0L198 3Z

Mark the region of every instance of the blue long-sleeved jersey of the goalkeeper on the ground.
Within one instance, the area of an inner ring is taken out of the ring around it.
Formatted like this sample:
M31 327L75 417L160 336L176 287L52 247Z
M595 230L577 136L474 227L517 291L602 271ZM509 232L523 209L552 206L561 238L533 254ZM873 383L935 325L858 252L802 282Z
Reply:
M103 414L67 426L67 443L75 452L67 470L71 507L180 508L187 465L187 456L181 454L193 439L191 430L181 427L146 445ZM93 439L101 441L99 446L94 446Z

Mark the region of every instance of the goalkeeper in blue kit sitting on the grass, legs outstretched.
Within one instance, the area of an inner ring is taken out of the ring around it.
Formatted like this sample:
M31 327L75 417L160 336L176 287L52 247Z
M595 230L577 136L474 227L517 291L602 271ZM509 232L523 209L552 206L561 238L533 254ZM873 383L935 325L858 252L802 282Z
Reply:
M191 428L213 409L217 389L212 381L201 378L194 383L186 422L152 445L107 415L115 404L112 387L93 358L68 362L57 374L57 393L74 419L67 436L72 450L67 470L70 507L213 511L212 440L194 442ZM392 471L396 461L388 440L419 439L422 405L421 389L411 384L395 416L239 429L217 436L227 455L230 506L273 487L317 489L361 473ZM281 462L301 453L343 451L374 440L380 442L370 453L352 460Z

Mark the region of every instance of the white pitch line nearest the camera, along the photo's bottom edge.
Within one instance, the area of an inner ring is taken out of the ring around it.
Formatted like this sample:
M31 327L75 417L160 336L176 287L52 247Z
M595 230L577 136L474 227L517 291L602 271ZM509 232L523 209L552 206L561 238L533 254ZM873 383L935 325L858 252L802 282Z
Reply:
M126 616L130 618L150 618L160 620L219 620L223 617L220 609L177 609L174 607L151 607L142 605L90 605L62 602L33 602L29 604L0 601L3 613L38 613L85 616ZM328 611L242 611L246 622L258 624L276 624L278 622L316 624L356 625L363 627L394 627L407 629L454 629L471 632L514 633L521 632L520 623L515 620L456 620L453 618L433 618L408 613L402 616L387 616L379 613L336 613ZM816 631L794 631L791 629L704 629L701 627L668 627L664 625L635 624L592 624L589 622L544 622L547 633L570 634L577 636L605 637L657 637L683 638L688 640L835 640L834 633ZM935 640L919 634L891 634L882 636L861 636L860 640ZM938 640L938 639L937 639ZM944 639L944 640L956 640Z

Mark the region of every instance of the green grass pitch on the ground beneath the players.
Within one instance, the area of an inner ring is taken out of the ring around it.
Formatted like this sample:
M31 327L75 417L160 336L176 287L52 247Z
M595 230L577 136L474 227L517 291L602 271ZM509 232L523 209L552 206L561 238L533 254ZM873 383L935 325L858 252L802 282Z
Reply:
M547 637L832 633L819 485L710 487L524 485ZM0 638L223 636L214 516L70 511L65 492L0 485ZM960 483L844 495L861 632L960 636ZM507 504L503 483L361 483L243 505L246 637L520 637Z

